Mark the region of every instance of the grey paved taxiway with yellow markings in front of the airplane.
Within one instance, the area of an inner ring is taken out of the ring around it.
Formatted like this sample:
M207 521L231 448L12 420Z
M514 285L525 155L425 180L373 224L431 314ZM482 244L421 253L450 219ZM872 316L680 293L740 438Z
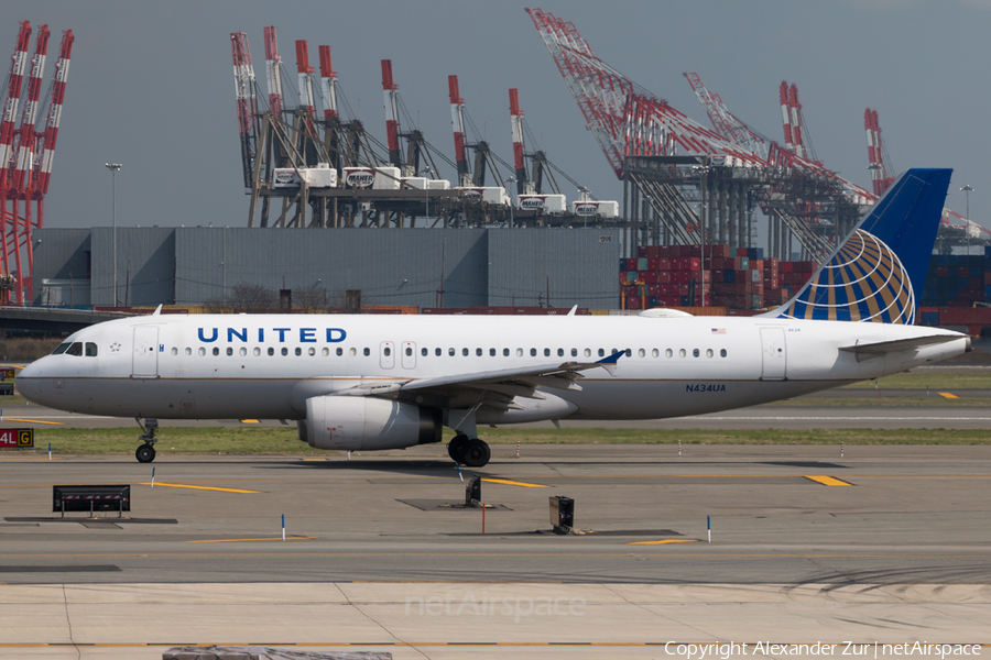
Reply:
M446 506L465 487L442 450L163 455L154 487L132 459L4 455L0 657L991 641L991 447L524 447L471 472L486 534ZM85 483L130 484L132 510L52 513L52 485ZM584 534L551 532L557 495Z

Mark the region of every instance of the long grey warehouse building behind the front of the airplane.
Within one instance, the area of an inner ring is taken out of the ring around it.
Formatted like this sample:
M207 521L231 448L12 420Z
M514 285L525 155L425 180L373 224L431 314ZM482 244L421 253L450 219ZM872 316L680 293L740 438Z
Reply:
M117 229L120 306L204 305L238 285L360 290L367 306L616 308L619 229ZM111 307L113 230L32 235L35 305Z

